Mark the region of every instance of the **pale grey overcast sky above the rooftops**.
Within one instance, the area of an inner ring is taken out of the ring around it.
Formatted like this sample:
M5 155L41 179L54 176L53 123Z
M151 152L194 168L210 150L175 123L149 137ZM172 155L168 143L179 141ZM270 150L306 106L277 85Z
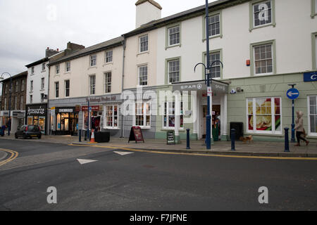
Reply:
M215 0L209 0L209 3ZM86 47L135 29L137 0L1 0L0 75L16 75L45 57L45 49ZM205 0L157 0L162 18L202 6ZM1 91L1 90L0 90ZM1 92L0 92L1 94Z

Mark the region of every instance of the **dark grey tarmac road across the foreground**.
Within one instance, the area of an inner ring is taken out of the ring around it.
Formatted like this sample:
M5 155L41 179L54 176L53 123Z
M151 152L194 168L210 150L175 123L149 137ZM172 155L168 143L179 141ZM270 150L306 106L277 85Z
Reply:
M0 148L18 152L0 165L0 210L317 210L316 160L219 158L20 140L1 140ZM78 159L96 161L80 164ZM51 186L56 204L47 203ZM268 204L259 203L261 186L268 188Z

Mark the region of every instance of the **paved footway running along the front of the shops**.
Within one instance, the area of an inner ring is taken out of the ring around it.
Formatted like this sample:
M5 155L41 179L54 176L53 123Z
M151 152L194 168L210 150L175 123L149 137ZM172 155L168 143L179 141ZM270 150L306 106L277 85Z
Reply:
M11 136L0 137L1 139L14 139ZM20 140L20 139L19 139ZM108 143L89 143L82 139L79 142L77 136L51 136L43 135L42 139L27 139L29 141L40 141L46 143L65 143L73 145L99 146L104 148L121 148L126 150L151 150L165 151L174 153L197 153L197 154L216 154L216 155L243 155L243 156L263 156L263 157L297 157L297 158L317 158L317 140L313 140L306 146L306 143L301 143L301 146L294 146L295 143L290 143L290 152L285 152L284 142L268 142L254 141L253 143L243 143L242 141L235 142L235 150L231 150L231 141L214 141L211 150L207 150L204 141L190 141L190 149L187 149L186 140L182 140L180 144L167 145L163 139L145 139L144 143L130 141L128 138L111 137ZM1 158L1 155L0 155Z

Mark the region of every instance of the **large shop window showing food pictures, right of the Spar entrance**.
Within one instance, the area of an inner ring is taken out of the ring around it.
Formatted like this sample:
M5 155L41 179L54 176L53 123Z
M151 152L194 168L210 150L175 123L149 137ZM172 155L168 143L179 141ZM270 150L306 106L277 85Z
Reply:
M247 131L282 134L281 98L248 98Z

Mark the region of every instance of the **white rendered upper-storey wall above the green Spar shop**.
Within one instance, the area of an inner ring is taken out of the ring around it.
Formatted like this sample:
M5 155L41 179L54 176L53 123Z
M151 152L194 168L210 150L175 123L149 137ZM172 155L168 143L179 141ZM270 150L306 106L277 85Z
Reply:
M285 74L312 69L311 33L317 31L317 18L311 19L310 1L275 0L276 27L249 32L249 3L225 8L222 13L223 37L210 39L210 51L222 49L223 79L249 77L250 44L275 39L276 72ZM182 21L181 46L166 49L166 27L157 32L157 84L165 83L165 60L181 57L181 81L202 79L201 63L206 52L203 15ZM204 62L203 62L204 63Z

